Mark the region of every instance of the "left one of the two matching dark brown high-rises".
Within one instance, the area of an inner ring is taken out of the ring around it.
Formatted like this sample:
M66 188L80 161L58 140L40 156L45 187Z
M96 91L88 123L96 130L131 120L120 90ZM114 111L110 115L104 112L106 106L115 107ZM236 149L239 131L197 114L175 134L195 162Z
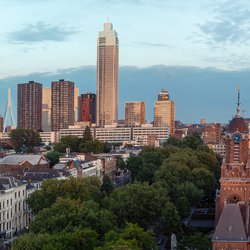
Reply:
M34 81L18 84L17 127L42 129L42 84Z

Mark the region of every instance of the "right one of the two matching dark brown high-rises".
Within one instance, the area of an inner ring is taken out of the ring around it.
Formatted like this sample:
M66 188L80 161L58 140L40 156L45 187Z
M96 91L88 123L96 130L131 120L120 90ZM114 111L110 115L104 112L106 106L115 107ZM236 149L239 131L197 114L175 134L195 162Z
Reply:
M74 125L74 83L64 79L51 83L51 130Z

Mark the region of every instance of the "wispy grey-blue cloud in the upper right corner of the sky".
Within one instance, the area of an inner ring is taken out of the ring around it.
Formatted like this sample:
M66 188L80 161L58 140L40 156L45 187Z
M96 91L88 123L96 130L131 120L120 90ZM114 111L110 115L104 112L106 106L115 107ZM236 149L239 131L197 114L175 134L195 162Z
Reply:
M226 1L213 8L213 20L199 25L208 42L235 44L250 38L249 6L240 1Z

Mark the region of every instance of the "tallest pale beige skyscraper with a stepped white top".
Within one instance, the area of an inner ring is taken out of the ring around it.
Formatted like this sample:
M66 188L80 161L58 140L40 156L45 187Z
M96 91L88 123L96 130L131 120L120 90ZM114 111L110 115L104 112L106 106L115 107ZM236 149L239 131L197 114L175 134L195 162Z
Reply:
M97 126L118 122L118 36L104 24L97 40Z

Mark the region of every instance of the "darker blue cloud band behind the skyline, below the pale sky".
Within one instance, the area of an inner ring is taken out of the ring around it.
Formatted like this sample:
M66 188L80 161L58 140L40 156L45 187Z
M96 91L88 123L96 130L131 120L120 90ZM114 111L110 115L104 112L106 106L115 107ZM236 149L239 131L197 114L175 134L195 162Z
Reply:
M96 93L96 65L60 69L57 72L33 73L0 79L0 91L12 90L12 106L16 117L16 89L18 83L31 80L49 87L54 80L65 79L76 83L80 93ZM212 68L154 65L139 68L120 66L119 119L124 119L125 101L145 101L146 119L153 120L153 106L162 88L175 101L176 120L184 123L228 123L235 115L237 85L241 85L241 109L249 117L249 70L225 71ZM133 89L133 91L131 91ZM143 91L142 91L143 89ZM5 97L5 96L4 96ZM6 99L0 100L0 114L4 114Z

